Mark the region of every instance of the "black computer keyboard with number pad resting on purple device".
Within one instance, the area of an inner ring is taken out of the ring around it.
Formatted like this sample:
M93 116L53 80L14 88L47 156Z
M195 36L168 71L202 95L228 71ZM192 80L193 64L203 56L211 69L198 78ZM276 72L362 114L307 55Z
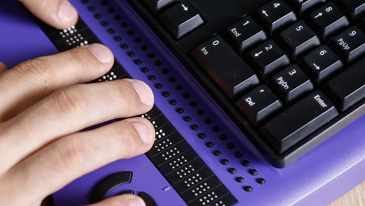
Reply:
M285 167L365 113L365 0L130 0Z

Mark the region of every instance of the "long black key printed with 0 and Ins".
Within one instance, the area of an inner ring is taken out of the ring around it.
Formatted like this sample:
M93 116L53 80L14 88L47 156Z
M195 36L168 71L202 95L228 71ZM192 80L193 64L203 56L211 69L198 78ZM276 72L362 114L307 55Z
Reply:
M191 54L231 99L259 84L256 74L220 35L199 45Z

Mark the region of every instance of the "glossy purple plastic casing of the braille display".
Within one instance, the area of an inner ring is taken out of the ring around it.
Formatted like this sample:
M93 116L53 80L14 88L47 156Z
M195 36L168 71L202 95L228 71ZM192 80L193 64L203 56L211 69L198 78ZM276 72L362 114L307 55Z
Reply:
M326 206L365 180L365 116L358 118L291 165L282 169L275 168L265 161L265 158L126 2L109 0L107 6L102 6L99 0L89 1L88 4L81 3L81 0L71 2L89 28L113 51L127 72L133 78L150 85L155 94L155 104L237 198L236 205ZM91 5L96 8L95 12L87 9ZM107 11L109 7L115 8L115 12L109 13ZM103 19L95 19L93 16L95 13L100 13ZM122 16L122 20L114 20L113 16L116 14ZM0 40L0 61L9 68L29 58L57 53L51 41L16 1L0 2L0 18L0 28L4 31ZM103 27L100 24L102 20L107 20L109 26ZM128 28L120 27L122 21L128 24ZM110 35L106 31L107 28L114 28L115 34ZM127 35L129 29L133 29L135 34ZM113 39L116 35L122 37L121 42L117 43ZM142 42L135 43L135 37L139 37ZM129 48L121 49L121 43L128 44ZM142 44L147 45L148 51L139 49ZM133 51L135 57L128 57L127 51ZM155 54L153 59L146 57L150 52ZM142 60L142 65L134 64L135 59ZM155 60L160 60L162 65L155 66ZM149 68L149 73L141 72L143 66ZM162 74L162 68L167 68L169 73ZM154 75L156 80L148 80L149 75ZM176 77L176 82L169 82L170 76ZM162 89L154 87L157 82L163 85ZM175 90L177 84L181 84L183 90ZM168 91L170 96L163 97L161 95L163 91ZM190 94L188 99L182 97L184 92ZM176 106L169 104L169 100L172 99L178 102ZM197 102L194 108L189 106L192 100ZM184 108L185 112L178 114L177 108ZM199 116L196 113L197 109L203 109L204 115ZM185 122L183 120L185 116L190 116L192 121ZM205 124L205 117L210 117L212 123ZM193 124L199 125L199 130L191 130L190 126ZM214 125L219 126L219 132L212 131ZM197 137L201 132L207 134L206 139L201 140ZM227 140L219 140L220 134L226 134ZM208 141L214 143L213 148L205 146ZM234 149L228 149L227 143L233 143ZM222 155L214 156L212 153L215 150L220 150ZM243 154L241 158L234 157L233 154L237 151ZM220 163L222 159L228 159L230 163L222 165ZM248 160L250 166L243 167L241 165L243 160ZM232 167L237 169L234 175L228 172ZM258 175L252 176L249 173L251 169L256 169ZM155 199L158 206L186 205L145 155L110 163L76 179L52 195L55 205L88 205L89 196L95 186L108 175L119 171L132 171L132 181L112 190L107 197L124 190L134 190L135 194L145 191ZM245 182L238 183L237 177L245 178ZM260 185L257 183L258 178L264 178L266 183ZM247 185L253 187L249 193L243 190Z

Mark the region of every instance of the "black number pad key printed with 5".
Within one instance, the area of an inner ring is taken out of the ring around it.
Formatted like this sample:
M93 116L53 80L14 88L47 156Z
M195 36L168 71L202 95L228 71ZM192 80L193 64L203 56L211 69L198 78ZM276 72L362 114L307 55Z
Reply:
M293 61L308 54L320 44L314 31L304 21L298 21L285 29L276 36L275 41Z

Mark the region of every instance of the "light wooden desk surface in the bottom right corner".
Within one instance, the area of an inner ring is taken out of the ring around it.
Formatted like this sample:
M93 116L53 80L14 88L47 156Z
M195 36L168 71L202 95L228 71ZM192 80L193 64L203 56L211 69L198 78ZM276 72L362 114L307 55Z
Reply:
M328 206L365 206L365 181Z

